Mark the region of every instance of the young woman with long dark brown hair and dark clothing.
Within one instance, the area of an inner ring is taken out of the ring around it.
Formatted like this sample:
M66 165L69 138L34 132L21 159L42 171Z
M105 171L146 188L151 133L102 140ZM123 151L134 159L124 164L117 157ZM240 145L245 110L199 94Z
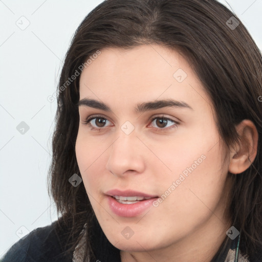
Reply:
M60 76L60 218L3 261L262 261L261 83L218 2L101 3Z

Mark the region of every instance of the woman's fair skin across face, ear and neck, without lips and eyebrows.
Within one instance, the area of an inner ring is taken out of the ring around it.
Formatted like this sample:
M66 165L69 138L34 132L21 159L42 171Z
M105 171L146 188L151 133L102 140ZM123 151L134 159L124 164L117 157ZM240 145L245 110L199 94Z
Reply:
M182 82L173 77L178 69L187 74ZM228 171L244 171L250 165L248 155L251 160L256 155L252 122L238 126L246 146L229 151L198 76L181 54L160 45L101 50L80 76L83 98L112 109L79 106L75 149L94 212L108 240L121 250L121 261L210 261L232 226L225 212L232 186ZM162 99L183 101L192 109L163 107L140 114L134 109L138 103ZM84 124L97 115L106 119L104 127L95 120L97 130ZM178 125L168 121L163 127L151 117L168 117ZM129 135L121 129L126 121L135 127ZM160 197L203 155L205 160L157 207L137 217L120 217L109 208L106 191L133 189ZM134 232L129 239L121 234L127 226Z

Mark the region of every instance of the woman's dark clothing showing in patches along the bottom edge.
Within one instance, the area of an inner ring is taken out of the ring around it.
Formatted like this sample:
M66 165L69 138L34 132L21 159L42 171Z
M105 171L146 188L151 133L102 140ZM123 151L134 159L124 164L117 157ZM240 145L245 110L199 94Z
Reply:
M57 221L49 226L30 232L24 239L16 242L6 253L1 262L72 262L73 252L64 256L65 237L58 236L55 231ZM105 237L101 227L96 225L96 234L92 241L96 260L102 262L121 262L120 251ZM66 234L65 234L66 235ZM238 236L239 237L239 236ZM224 262L229 249L235 249L238 237L229 241L226 249L222 248L213 257L212 262ZM262 262L262 254L253 255L250 262ZM239 259L239 262L241 260Z

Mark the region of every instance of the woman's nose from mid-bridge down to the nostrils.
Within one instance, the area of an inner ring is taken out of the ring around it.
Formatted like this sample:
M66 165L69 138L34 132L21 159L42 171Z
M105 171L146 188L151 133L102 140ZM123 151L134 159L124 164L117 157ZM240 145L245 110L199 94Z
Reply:
M143 144L137 138L135 130L126 135L122 130L110 148L106 169L115 176L125 176L128 171L134 174L142 173L145 168ZM146 153L146 152L145 152Z

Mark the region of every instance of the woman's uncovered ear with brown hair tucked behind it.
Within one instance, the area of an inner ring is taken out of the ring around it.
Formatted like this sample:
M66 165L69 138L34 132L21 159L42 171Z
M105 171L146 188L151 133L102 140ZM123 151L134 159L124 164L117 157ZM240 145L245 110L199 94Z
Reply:
M230 148L230 164L228 171L233 174L244 172L254 161L257 154L258 133L251 120L243 120L236 126L241 137L239 144Z

